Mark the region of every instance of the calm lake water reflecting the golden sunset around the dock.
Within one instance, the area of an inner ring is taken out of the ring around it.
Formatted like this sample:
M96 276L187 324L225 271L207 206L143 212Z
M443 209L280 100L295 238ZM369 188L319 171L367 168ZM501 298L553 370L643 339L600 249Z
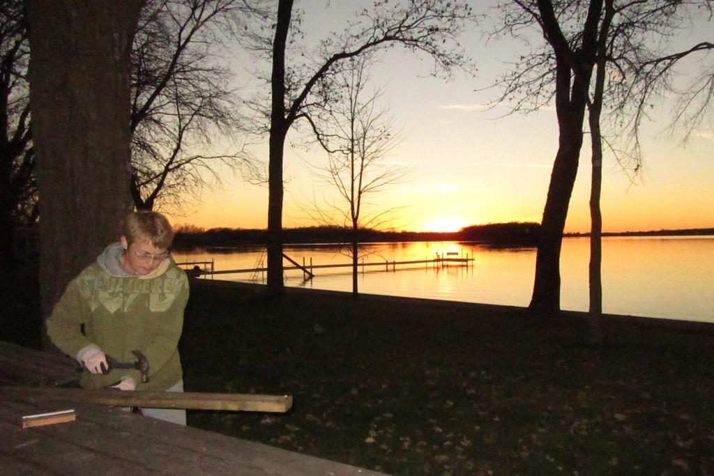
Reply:
M535 248L493 249L476 243L420 242L362 245L361 293L527 306L533 291ZM261 248L199 249L174 252L178 263L214 260L215 270L265 267ZM293 245L284 252L298 263L349 263L334 245ZM458 253L467 265L386 265L432 260ZM589 238L565 238L560 257L560 307L588 310ZM285 265L290 263L285 261ZM396 270L395 270L396 268ZM287 286L351 291L351 268L316 268L305 280L299 270L285 274ZM714 322L714 237L603 238L603 312ZM264 273L220 274L214 279L264 283Z

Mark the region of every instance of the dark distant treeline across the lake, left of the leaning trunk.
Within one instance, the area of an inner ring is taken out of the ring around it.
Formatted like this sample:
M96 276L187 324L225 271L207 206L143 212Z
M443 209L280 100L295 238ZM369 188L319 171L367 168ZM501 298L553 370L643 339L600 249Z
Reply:
M359 230L360 243L396 241L482 241L490 245L535 246L538 244L538 223L489 223L462 228L450 233L417 231ZM244 228L211 228L203 230L181 226L176 230L175 248L211 246L265 245L268 232ZM350 243L351 229L338 226L311 226L283 229L283 243Z

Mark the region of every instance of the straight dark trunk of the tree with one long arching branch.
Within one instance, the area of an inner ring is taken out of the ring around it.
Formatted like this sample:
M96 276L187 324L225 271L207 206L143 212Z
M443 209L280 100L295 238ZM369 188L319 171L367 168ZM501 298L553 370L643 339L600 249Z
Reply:
M283 294L283 149L291 118L285 108L285 48L293 11L292 0L280 0L273 39L271 127L268 162L268 295Z

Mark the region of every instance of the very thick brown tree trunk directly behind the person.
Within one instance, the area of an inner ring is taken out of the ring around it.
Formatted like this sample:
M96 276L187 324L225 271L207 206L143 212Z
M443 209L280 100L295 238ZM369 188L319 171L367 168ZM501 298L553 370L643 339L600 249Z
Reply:
M27 2L43 318L131 210L129 54L140 7Z

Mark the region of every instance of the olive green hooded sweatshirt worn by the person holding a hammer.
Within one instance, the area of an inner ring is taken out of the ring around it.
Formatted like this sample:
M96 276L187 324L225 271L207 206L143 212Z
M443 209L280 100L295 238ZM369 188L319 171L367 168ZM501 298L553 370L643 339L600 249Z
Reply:
M104 388L131 377L136 390L164 391L183 378L178 339L188 278L171 257L151 275L136 277L119 265L121 253L121 243L109 245L69 283L47 320L47 334L78 361L90 345L118 362L134 362L132 350L149 361L149 383L141 383L139 370L113 369L107 375L84 370L79 380L84 388Z

